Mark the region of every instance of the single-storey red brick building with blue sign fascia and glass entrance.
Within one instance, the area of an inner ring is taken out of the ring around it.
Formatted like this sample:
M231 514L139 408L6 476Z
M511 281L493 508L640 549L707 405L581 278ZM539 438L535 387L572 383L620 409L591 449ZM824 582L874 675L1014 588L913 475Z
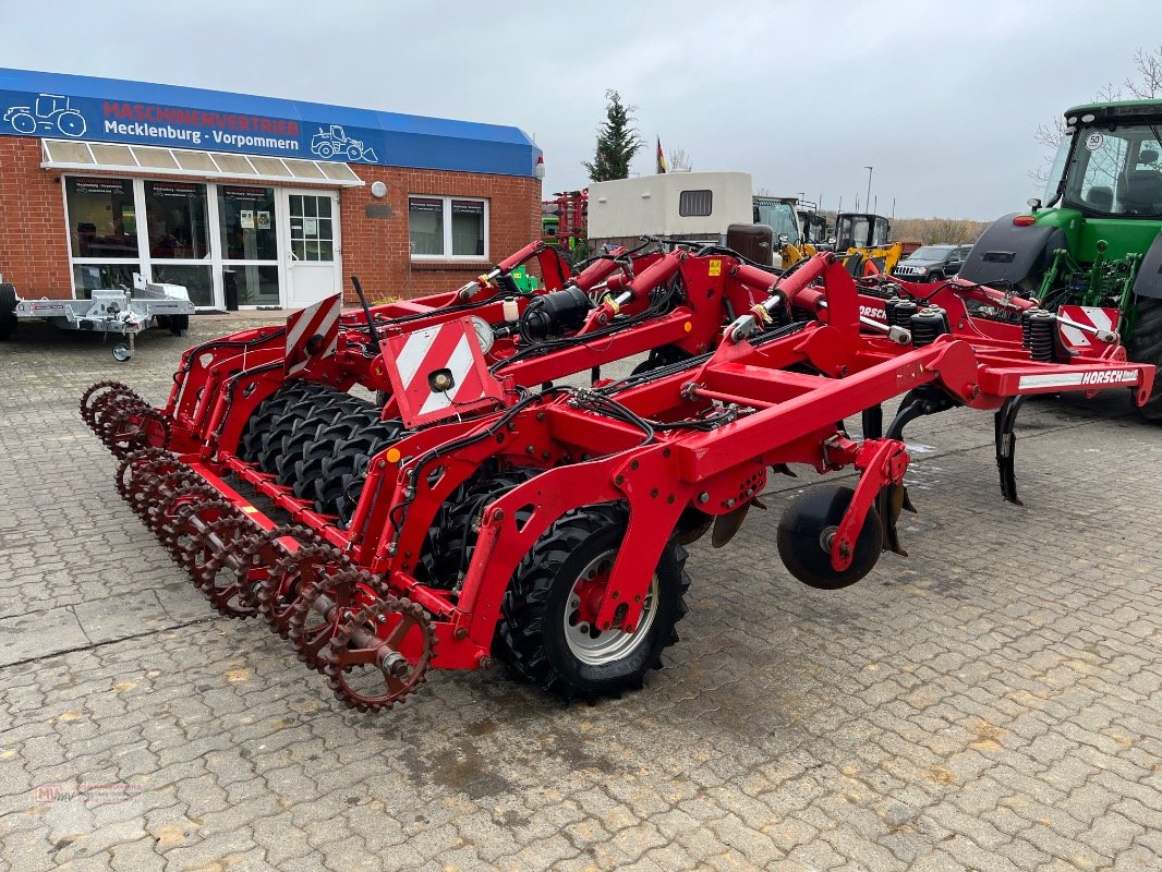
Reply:
M206 309L449 290L539 235L539 157L512 127L0 69L0 274L141 272Z

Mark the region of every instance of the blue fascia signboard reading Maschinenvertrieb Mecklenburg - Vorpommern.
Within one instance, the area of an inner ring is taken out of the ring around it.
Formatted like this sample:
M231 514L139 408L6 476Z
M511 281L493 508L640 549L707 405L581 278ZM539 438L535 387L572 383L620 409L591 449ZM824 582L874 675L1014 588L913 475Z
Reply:
M5 69L0 135L504 176L540 156L514 127Z

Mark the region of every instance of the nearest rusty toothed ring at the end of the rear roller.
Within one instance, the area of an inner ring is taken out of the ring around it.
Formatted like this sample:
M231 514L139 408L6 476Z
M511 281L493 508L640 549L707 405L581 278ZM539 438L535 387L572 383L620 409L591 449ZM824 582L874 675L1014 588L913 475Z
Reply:
M381 596L347 619L327 648L324 672L349 708L392 708L423 681L436 649L431 619L402 596Z

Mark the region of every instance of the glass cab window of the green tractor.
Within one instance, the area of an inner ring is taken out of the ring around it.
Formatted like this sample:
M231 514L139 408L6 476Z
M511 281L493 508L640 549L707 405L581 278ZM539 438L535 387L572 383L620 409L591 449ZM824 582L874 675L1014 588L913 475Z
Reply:
M1162 215L1162 136L1149 124L1083 128L1063 201L1104 215Z

